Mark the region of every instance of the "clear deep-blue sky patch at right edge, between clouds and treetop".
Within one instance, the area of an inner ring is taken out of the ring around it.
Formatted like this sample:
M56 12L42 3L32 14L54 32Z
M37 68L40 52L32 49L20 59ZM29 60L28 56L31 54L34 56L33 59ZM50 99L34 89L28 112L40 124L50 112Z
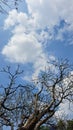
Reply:
M46 47L48 55L54 55L57 58L67 58L73 62L73 45L68 45L66 41L53 40Z

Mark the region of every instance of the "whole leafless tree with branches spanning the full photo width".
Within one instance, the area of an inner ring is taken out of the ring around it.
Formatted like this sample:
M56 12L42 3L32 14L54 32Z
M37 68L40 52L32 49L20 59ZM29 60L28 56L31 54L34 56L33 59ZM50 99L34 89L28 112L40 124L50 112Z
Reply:
M29 84L16 82L22 73L10 67L3 69L9 75L9 83L1 86L0 122L18 130L38 130L50 122L63 101L73 101L73 73L67 60L52 62L45 72Z

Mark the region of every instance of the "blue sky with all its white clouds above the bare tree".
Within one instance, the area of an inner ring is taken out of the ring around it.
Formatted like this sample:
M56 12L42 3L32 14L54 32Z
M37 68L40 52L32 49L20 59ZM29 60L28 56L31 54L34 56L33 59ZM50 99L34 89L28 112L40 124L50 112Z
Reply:
M73 63L73 0L23 0L0 14L0 68L18 64L22 80L32 80L47 61ZM4 6L5 7L5 6ZM52 68L53 69L53 68ZM64 106L67 113L68 105Z

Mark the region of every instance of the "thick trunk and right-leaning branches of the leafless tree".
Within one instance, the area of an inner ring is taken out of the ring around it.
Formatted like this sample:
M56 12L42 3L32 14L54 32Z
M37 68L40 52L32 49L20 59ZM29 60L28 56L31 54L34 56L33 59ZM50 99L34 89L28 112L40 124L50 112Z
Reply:
M38 130L50 121L64 100L73 101L73 75L68 61L53 62L55 72L48 69L37 80L34 88L32 113L18 130ZM40 89L40 90L39 90Z

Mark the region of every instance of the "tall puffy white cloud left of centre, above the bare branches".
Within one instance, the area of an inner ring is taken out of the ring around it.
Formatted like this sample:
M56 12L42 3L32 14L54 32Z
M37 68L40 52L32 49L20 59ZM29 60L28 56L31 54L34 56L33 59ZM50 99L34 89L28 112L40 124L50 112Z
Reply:
M13 26L11 30L12 37L7 45L4 46L2 54L10 62L32 63L34 68L33 75L38 75L47 63L47 56L43 51L41 42L39 42L42 40L42 36L40 37L35 31L35 27L32 28L32 19L29 19L22 12L17 13L17 11L12 10L9 13L8 18L5 20L4 28L8 29L11 26ZM47 34L45 33L44 37L46 36Z

